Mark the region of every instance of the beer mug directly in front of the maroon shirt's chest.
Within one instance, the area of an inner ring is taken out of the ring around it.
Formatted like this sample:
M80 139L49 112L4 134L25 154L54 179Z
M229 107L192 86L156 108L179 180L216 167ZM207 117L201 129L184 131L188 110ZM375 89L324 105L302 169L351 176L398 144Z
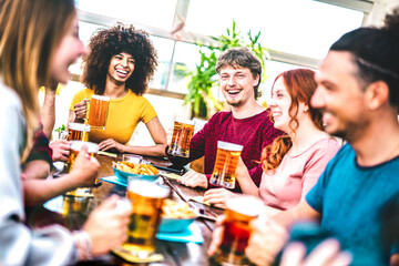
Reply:
M243 145L223 141L217 142L216 162L211 176L211 184L226 188L235 187L235 171L242 151Z

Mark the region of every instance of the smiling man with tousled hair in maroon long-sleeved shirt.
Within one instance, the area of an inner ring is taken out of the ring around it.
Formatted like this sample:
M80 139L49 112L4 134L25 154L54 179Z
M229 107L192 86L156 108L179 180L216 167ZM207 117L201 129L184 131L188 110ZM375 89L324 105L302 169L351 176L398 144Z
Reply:
M262 64L257 57L247 48L233 48L223 52L217 59L216 72L223 95L232 111L218 112L211 117L205 126L196 133L190 145L190 157L172 157L174 165L185 165L205 156L205 174L190 171L180 182L192 187L212 187L209 178L214 168L217 141L225 141L244 146L242 158L249 170L255 184L259 186L262 150L275 137L283 134L274 129L268 111L256 102L259 96ZM221 196L226 190L218 190ZM241 192L236 182L235 192Z

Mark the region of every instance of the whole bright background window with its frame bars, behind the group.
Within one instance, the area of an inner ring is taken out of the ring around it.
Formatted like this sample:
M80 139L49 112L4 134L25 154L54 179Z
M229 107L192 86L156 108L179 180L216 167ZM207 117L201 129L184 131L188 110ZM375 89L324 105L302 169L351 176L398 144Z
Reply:
M365 9L356 10L357 0L348 2L349 8L313 0L247 0L245 4L239 0L76 0L76 7L83 17L80 34L85 43L99 28L117 21L146 30L160 60L151 88L184 94L187 79L178 74L178 66L194 70L198 62L193 40L225 34L234 19L242 34L262 32L260 43L270 49L274 60L266 64L267 73L316 69L334 41L362 23ZM173 23L182 18L184 34L174 40ZM80 72L79 64L72 66L73 73Z

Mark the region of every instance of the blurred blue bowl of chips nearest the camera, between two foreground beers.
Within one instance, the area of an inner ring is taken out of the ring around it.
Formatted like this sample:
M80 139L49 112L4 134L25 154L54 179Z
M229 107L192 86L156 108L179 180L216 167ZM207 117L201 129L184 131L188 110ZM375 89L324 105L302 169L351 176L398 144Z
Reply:
M185 202L175 202L170 198L164 201L162 206L162 219L158 228L160 233L180 233L188 226L198 216L196 211Z

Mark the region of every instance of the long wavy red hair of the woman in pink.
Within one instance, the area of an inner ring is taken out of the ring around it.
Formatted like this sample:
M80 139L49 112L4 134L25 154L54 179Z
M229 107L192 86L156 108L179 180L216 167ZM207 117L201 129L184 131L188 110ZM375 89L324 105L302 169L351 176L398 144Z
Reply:
M295 133L295 130L298 129L299 122L297 119L298 115L298 106L299 102L305 102L309 106L309 113L314 124L323 130L323 121L321 113L313 109L310 105L310 99L314 94L317 84L315 81L315 72L308 69L296 69L288 70L275 79L272 92L276 81L283 78L284 85L286 86L290 98L291 104L288 110L288 114L290 116L290 121L288 123L289 129ZM270 113L270 120L273 121L273 116ZM264 171L275 170L282 163L284 155L291 147L293 142L288 135L278 136L274 140L270 145L267 145L262 152L262 167Z

